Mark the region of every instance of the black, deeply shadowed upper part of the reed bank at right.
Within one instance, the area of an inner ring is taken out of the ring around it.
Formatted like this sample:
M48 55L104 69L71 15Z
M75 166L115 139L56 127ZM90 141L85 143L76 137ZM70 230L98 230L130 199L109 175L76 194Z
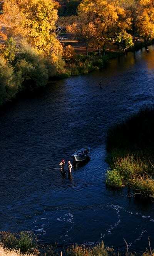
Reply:
M122 123L110 128L107 150L134 152L151 148L154 151L154 108L144 108Z

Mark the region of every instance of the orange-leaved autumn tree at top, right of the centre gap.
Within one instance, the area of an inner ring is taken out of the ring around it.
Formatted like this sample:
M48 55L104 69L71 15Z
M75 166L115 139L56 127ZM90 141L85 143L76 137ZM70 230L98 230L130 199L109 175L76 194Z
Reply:
M117 23L116 8L103 0L83 0L78 7L79 19L67 29L74 32L85 41L86 48L94 46L100 50L105 48L113 34L113 27Z

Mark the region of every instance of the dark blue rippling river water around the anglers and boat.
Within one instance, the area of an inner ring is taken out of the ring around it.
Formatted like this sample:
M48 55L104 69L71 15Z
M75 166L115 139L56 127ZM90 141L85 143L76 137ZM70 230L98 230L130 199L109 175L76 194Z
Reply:
M102 89L99 82L102 82ZM110 60L103 71L55 82L0 112L0 230L31 230L44 243L154 247L154 205L105 186L107 129L154 104L154 46ZM74 150L91 160L62 177Z

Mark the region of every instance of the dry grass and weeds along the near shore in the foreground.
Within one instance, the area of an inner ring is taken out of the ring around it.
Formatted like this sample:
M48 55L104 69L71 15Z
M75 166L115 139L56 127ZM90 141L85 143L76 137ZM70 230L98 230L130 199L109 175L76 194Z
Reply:
M22 231L18 234L10 232L0 232L0 255L1 256L152 256L154 250L151 249L150 237L148 237L145 252L133 253L129 252L129 246L124 239L126 250L119 252L113 247L107 247L104 242L100 242L94 246L84 246L73 244L68 248L58 248L57 246L43 246L38 243L37 237L30 231Z

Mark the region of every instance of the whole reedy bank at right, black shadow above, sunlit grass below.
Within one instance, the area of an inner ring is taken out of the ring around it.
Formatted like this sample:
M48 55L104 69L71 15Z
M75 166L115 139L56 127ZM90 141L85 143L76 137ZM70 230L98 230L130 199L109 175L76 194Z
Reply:
M106 173L106 184L130 185L134 195L154 198L154 109L142 109L112 127L107 136L107 151L110 170Z

